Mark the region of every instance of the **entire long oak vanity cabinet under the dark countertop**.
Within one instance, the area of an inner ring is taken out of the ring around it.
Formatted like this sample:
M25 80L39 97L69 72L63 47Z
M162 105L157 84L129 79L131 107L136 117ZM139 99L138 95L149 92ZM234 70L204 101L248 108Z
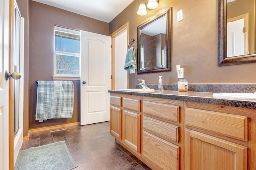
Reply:
M256 109L111 93L110 134L153 170L256 170Z

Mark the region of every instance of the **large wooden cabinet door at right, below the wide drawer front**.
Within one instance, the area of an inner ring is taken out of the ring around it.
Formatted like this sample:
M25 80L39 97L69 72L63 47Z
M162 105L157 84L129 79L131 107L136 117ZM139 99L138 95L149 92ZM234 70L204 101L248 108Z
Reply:
M186 129L186 170L247 170L247 147Z

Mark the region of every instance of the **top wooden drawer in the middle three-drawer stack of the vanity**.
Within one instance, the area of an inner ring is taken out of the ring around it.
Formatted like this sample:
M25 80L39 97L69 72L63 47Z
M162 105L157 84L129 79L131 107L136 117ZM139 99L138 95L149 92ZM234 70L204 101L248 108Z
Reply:
M144 101L143 113L163 121L179 122L179 106Z

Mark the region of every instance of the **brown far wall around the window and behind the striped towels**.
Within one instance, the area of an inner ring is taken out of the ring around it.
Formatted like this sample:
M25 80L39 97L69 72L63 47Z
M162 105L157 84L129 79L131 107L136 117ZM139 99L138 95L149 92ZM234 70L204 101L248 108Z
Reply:
M80 81L74 81L74 112L68 119L35 120L36 80L52 80L54 73L54 24L108 35L108 23L29 0L29 128L80 121ZM27 113L25 113L27 114ZM24 115L26 117L26 115ZM28 126L28 125L24 125ZM24 134L26 136L26 134Z

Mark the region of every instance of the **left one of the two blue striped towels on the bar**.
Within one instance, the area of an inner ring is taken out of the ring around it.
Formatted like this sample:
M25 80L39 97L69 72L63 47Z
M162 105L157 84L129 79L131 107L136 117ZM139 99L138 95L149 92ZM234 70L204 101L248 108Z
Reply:
M54 94L53 81L38 80L37 101L36 101L36 120L52 118L52 104Z

